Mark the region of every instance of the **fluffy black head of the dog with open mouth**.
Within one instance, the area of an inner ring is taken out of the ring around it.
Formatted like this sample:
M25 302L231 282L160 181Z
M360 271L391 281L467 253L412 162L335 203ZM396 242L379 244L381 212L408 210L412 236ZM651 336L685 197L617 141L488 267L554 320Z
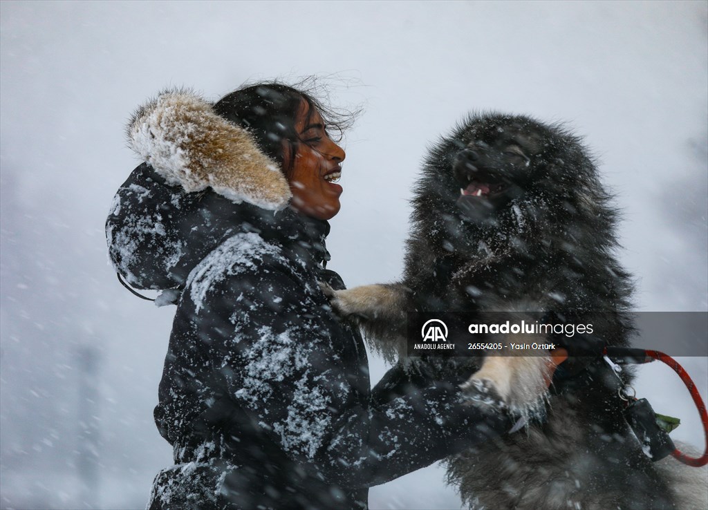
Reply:
M413 221L455 251L525 249L612 221L581 140L521 115L469 115L430 151L415 191Z

